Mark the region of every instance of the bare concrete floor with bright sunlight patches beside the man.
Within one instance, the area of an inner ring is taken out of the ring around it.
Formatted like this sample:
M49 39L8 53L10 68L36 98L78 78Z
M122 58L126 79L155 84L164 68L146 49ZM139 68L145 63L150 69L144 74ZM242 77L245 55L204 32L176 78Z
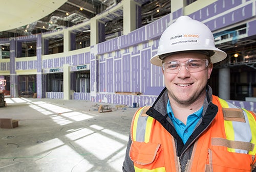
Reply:
M0 171L122 171L131 120L138 108L78 100L6 97L0 118ZM112 112L99 113L99 105Z

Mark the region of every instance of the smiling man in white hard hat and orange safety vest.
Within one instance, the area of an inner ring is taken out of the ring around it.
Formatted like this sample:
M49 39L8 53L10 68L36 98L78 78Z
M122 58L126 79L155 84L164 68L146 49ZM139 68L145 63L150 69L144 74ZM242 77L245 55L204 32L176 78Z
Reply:
M162 34L151 63L166 88L134 115L123 171L254 171L252 112L212 95L207 80L226 53L205 24L179 17Z

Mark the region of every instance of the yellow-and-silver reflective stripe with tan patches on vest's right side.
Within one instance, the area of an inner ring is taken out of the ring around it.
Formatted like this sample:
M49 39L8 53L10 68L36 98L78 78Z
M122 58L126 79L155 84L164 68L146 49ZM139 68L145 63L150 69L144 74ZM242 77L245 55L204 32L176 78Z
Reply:
M219 101L223 108L226 138L230 141L223 143L228 147L228 152L255 155L256 124L254 117L245 109L240 109L220 98Z

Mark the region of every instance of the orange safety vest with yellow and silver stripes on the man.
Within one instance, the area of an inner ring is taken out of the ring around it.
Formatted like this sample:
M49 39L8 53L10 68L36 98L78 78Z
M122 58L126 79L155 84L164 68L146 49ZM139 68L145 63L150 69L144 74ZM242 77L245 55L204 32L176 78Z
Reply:
M251 171L256 166L255 116L217 96L212 97L212 103L219 111L196 140L185 170ZM140 108L132 122L130 158L135 171L181 171L173 136L156 119L145 114L148 108Z

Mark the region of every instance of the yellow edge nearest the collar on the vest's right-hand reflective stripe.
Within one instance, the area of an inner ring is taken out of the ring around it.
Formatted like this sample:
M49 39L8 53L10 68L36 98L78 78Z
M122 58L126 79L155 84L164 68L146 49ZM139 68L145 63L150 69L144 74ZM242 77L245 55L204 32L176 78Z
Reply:
M226 101L224 101L223 99L219 99L219 100L220 100L221 106L223 108L228 108L229 107ZM226 133L227 139L228 140L234 140L234 129L233 129L232 121L224 120L224 126L225 126L225 133ZM232 148L227 148L227 151L228 152L235 152L235 150L232 149Z

